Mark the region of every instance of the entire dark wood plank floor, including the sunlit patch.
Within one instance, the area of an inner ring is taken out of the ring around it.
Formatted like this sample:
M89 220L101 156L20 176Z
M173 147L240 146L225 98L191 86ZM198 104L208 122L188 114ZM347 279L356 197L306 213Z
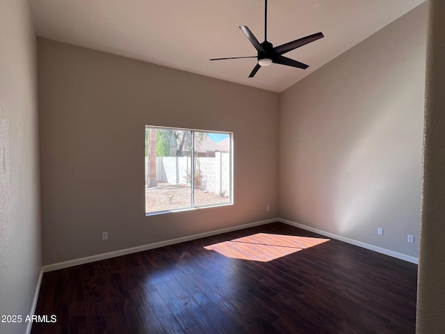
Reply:
M44 273L31 333L414 333L416 276L273 223Z

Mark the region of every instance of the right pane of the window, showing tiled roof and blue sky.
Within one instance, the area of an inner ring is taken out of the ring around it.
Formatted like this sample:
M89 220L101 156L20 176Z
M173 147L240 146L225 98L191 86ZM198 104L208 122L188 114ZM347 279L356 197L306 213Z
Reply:
M195 206L230 202L230 136L211 132L194 133Z

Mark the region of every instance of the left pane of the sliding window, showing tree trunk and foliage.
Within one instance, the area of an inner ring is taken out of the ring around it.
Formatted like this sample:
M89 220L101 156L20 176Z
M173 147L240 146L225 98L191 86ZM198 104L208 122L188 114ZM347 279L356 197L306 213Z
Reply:
M145 212L191 207L190 131L145 128Z

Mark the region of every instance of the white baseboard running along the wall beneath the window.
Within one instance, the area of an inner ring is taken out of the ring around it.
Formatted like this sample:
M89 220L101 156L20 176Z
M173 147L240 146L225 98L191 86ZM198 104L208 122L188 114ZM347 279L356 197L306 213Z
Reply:
M213 230L210 232L193 234L193 235L189 235L187 237L181 237L181 238L177 238L177 239L170 239L170 240L166 240L166 241L155 242L153 244L147 244L147 245L143 245L143 246L115 250L115 251L109 252L109 253L102 253L102 254L92 255L92 256L88 256L88 257L81 257L80 259L76 259L76 260L58 262L55 264L48 264L46 266L43 266L42 270L44 273L46 273L47 271L54 271L54 270L58 270L58 269L74 267L79 264L86 264L86 263L95 262L95 261L99 261L99 260L106 260L106 259L110 259L111 257L117 257L117 256L121 256L121 255L131 254L131 253L138 253L138 252L143 252L144 250L149 250L149 249L153 249L153 248L170 246L173 244L179 244L181 242L191 241L191 240L195 240L195 239L201 239L204 237L211 237L212 235L216 235L216 234L223 234L223 233L232 232L232 231L236 231L236 230L243 230L244 228L252 228L254 226L264 225L264 224L268 224L268 223L274 223L275 221L277 221L277 218L267 219L266 221L256 221L254 223L248 223L248 224L244 224L244 225L237 225L232 228L223 228L221 230Z

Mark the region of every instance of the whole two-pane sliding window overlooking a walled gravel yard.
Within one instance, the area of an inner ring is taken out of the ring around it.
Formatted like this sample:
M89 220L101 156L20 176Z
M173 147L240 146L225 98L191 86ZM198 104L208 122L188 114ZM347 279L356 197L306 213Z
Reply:
M232 133L145 127L145 214L233 202Z

